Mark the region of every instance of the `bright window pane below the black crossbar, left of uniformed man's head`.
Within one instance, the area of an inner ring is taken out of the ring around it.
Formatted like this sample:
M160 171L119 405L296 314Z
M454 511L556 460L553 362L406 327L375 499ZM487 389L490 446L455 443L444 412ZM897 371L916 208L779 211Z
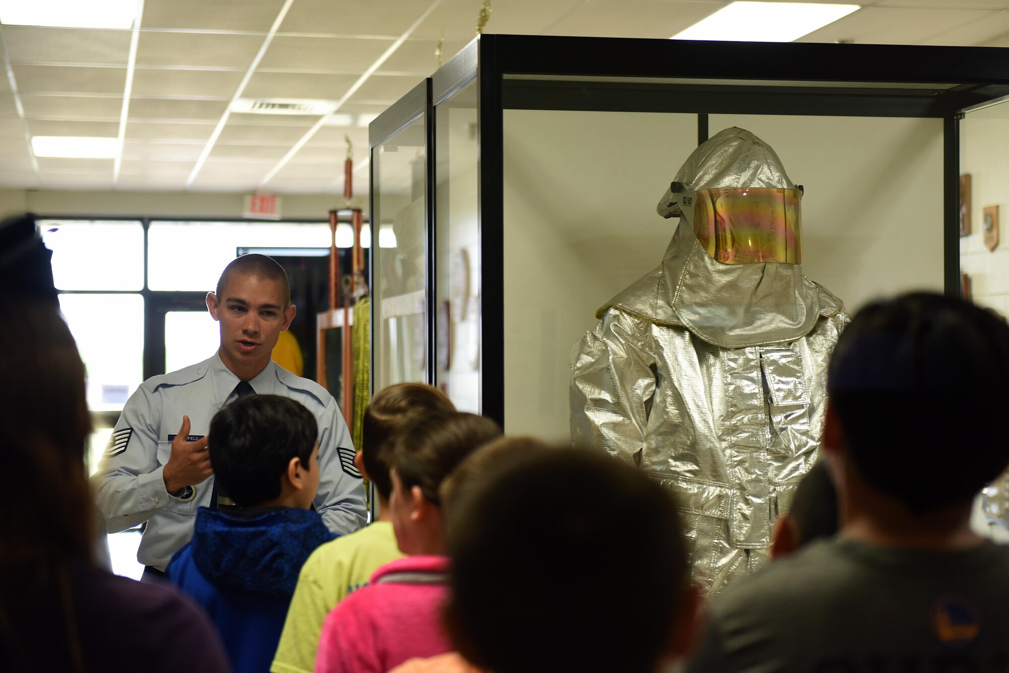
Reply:
M122 409L143 376L143 297L61 294L60 309L87 368L88 408Z

